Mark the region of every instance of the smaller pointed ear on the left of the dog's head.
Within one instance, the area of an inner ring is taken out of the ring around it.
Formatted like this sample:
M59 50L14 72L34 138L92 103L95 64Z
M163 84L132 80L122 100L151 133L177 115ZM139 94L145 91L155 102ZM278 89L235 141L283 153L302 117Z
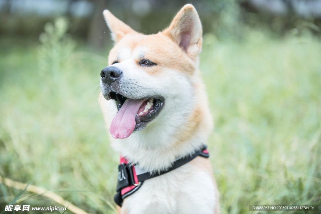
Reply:
M128 33L136 33L133 29L131 29L124 22L117 19L109 10L104 10L103 12L105 21L109 30L111 31L111 37L115 42L118 42L121 38L123 38Z

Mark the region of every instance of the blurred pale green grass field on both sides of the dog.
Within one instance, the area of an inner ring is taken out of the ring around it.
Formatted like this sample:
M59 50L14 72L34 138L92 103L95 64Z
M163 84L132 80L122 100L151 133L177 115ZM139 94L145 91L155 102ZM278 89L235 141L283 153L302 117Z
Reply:
M0 174L89 213L114 213L119 154L98 97L108 51L74 49L63 21L47 25L41 41L0 40ZM243 42L222 42L207 34L200 58L222 214L257 213L249 204L320 204L321 41L251 30ZM0 210L18 194L26 197L19 205L58 206L0 184Z

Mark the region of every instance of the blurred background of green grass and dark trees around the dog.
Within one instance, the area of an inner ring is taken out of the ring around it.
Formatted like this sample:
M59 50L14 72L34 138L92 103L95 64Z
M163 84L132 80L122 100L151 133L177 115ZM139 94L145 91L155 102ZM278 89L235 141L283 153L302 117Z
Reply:
M115 213L119 154L98 96L113 46L102 11L151 34L187 3L203 25L221 213L320 204L321 0L0 0L0 176ZM8 204L61 206L2 180L1 214Z

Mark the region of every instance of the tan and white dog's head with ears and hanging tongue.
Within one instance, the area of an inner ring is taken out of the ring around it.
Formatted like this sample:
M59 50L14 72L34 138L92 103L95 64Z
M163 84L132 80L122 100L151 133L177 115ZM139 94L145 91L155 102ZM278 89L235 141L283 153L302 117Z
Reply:
M103 14L115 41L100 73L104 98L114 99L118 108L109 129L113 138L152 124L174 133L195 123L203 95L197 94L202 26L194 6L185 5L167 29L152 35L132 30L108 10Z

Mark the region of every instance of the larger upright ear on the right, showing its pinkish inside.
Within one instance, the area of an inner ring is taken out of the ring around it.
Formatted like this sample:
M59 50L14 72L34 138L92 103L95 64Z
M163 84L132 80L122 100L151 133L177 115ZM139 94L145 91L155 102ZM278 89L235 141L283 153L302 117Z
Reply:
M162 34L178 44L193 60L202 50L202 24L192 4L186 4Z

